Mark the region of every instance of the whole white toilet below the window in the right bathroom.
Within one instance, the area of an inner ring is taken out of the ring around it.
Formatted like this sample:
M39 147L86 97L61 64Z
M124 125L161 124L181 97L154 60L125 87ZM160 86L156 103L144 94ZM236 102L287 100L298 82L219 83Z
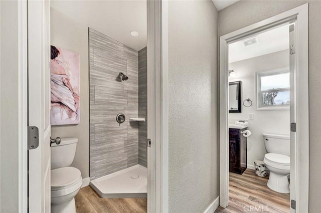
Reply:
M264 163L270 170L267 186L280 193L289 193L287 176L290 174L290 136L263 133Z

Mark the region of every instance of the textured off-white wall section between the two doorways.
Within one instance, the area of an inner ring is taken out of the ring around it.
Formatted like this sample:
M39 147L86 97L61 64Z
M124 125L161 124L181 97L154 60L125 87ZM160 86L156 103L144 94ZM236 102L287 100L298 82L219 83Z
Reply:
M169 210L201 212L218 196L217 9L169 1Z

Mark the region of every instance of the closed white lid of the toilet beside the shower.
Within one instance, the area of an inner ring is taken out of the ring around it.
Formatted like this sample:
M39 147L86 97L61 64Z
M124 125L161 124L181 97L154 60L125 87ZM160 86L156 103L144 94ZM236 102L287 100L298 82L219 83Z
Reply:
M51 188L73 185L81 179L81 173L75 167L62 167L51 170Z

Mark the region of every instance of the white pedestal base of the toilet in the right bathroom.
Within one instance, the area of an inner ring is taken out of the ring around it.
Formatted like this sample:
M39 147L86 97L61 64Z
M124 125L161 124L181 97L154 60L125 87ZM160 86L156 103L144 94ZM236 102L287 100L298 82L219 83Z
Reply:
M270 177L267 181L267 186L279 193L290 193L287 175L277 174L273 171L270 171Z

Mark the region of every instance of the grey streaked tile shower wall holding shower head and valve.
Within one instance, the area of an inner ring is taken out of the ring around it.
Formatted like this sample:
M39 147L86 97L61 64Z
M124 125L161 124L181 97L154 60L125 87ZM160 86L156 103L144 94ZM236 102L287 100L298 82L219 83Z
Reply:
M138 52L89 28L90 179L138 163ZM123 72L128 80L118 76ZM124 123L116 115L124 113Z

